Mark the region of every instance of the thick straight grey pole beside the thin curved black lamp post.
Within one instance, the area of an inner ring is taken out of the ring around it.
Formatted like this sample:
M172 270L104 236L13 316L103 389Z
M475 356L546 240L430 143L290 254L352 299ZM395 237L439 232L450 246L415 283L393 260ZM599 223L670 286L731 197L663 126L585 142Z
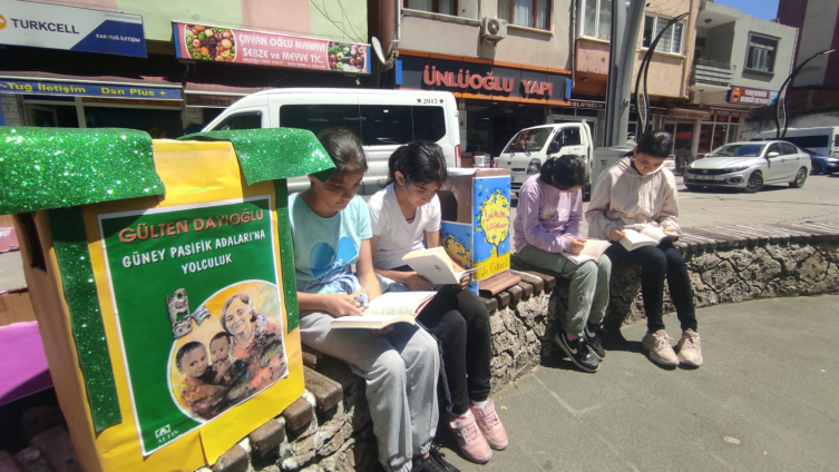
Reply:
M612 42L606 91L605 145L623 146L630 128L630 98L632 70L635 65L635 46L641 23L644 21L646 0L612 0ZM643 131L643 130L640 130Z

